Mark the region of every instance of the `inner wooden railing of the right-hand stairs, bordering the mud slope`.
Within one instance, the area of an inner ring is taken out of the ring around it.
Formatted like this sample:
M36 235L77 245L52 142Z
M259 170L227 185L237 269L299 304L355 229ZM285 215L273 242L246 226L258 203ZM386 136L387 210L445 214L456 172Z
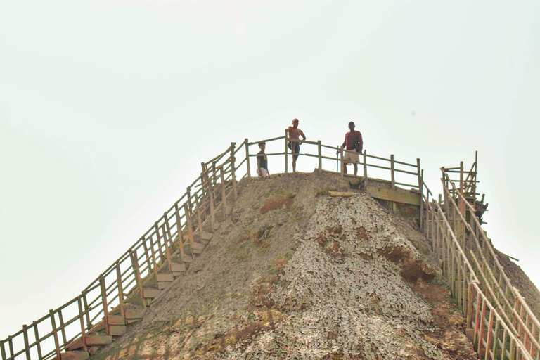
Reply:
M522 342L515 328L508 325L504 314L499 311L499 304L492 304L492 299L487 297L486 288L477 276L478 271L465 255L463 241L456 236L452 220L442 210L440 198L439 202L432 199L430 203L432 193L425 184L424 189L426 221L423 231L432 240L432 250L439 259L452 297L466 316L468 335L473 340L475 351L482 359L537 359L537 354L533 357L530 347Z

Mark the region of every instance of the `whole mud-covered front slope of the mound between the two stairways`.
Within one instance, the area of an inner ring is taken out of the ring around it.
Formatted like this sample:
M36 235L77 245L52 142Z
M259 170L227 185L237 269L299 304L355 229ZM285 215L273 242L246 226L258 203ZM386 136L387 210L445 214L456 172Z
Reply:
M477 359L413 222L332 174L240 182L210 246L96 359Z

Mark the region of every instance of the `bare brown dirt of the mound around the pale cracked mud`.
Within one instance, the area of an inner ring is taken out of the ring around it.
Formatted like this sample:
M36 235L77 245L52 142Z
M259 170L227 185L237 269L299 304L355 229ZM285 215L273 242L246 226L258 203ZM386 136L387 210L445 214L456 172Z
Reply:
M242 349L257 336L276 330L289 308L302 309L304 304L287 302L276 307L270 295L297 248L297 234L307 229L319 196L330 188L351 191L349 184L331 174L275 174L244 179L238 186L233 213L221 222L214 239L181 276L179 285L150 307L143 321L92 359L173 359L181 349L186 351L186 359L214 359L223 356L227 345ZM414 259L409 250L399 247L378 251L379 256L401 266L401 276L430 304L434 330L426 331L423 337L449 359L478 359L464 335L465 319L451 300L448 287L437 280L432 269L436 262L430 254L430 243L418 233L411 219L396 217L394 226L428 259L428 263ZM340 233L340 226L328 227L317 243L328 255L342 257ZM362 227L356 229L356 234L359 240L369 237ZM522 295L538 295L519 266L507 257L499 259ZM372 301L378 302L380 299L373 295ZM537 296L531 307L540 309ZM328 334L330 339L333 336L333 332ZM403 334L403 338L408 336ZM275 341L277 347L288 346L279 337ZM359 340L357 349L364 346ZM413 340L405 346L410 359L428 359ZM377 353L377 349L371 350ZM321 359L364 357L336 352Z

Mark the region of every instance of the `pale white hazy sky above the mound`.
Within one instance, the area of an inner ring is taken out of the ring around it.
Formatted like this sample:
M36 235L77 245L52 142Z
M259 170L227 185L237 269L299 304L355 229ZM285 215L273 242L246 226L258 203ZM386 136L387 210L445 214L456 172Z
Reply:
M539 19L519 0L1 1L0 339L77 296L200 162L293 117L330 145L354 120L435 193L478 150L488 236L540 285Z

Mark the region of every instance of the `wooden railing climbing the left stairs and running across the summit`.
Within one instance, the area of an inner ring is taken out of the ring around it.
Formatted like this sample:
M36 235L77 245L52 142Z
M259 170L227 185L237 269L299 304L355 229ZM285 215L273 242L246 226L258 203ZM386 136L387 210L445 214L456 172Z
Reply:
M285 173L288 172L292 155L287 148L290 140L286 134L263 140L280 148L278 152L266 155L274 159L282 156ZM84 340L92 330L103 327L107 333L111 333L114 324L109 319L114 314L124 315L128 311L128 304L137 303L147 307L149 302L144 297L144 286L155 280L161 269L170 271L175 261L186 259L188 255L184 254L184 247L191 248L194 235L202 236L203 228L215 229L216 217L221 212L226 214L229 203L238 195L236 183L252 176L251 160L255 160L253 158L257 155L250 153L250 147L257 146L259 142L245 139L238 148L231 143L223 153L203 162L200 176L186 188L186 193L80 295L1 340L1 359L51 359L54 356L60 359L60 353L71 342L77 338ZM267 150L271 146L267 146ZM336 152L339 155L335 155ZM323 145L321 141L302 141L302 150L298 155L302 157L299 162L316 160L318 172L345 176L345 152L339 146ZM242 160L238 162L237 158ZM410 164L395 160L394 155L387 159L369 155L366 151L359 158L361 175L357 177L368 179L369 170L369 179L387 181L391 188L409 186L419 193L423 192L419 159L416 164ZM420 206L420 211L422 209L423 206Z

